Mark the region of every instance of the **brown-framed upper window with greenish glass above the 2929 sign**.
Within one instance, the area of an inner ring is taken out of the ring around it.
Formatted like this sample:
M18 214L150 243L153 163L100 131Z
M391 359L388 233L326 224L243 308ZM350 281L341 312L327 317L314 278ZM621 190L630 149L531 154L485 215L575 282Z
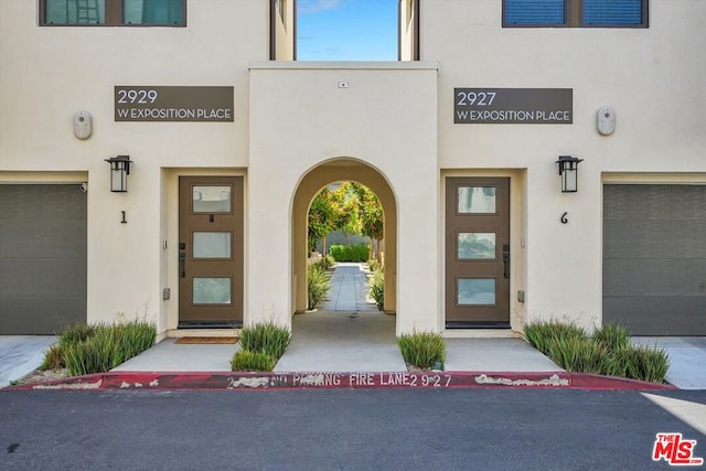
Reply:
M185 26L186 0L40 0L40 24Z

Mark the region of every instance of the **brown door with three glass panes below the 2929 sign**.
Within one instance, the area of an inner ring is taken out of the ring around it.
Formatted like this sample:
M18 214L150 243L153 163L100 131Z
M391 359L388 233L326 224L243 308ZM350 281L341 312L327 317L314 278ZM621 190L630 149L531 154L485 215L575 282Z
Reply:
M179 327L243 324L243 178L179 179Z

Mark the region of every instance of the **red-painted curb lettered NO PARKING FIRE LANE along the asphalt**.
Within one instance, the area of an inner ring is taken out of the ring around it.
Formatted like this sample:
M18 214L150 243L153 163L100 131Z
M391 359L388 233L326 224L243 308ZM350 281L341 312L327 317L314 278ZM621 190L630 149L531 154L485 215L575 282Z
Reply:
M10 386L6 390L92 389L339 389L339 388L575 388L590 390L676 389L635 379L567 372L303 372L303 373L193 373L108 372Z

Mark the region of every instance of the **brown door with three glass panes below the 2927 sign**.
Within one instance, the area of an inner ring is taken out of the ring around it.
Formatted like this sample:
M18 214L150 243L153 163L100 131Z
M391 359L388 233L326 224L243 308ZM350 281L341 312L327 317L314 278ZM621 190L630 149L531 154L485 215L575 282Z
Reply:
M446 327L510 327L510 179L446 179Z

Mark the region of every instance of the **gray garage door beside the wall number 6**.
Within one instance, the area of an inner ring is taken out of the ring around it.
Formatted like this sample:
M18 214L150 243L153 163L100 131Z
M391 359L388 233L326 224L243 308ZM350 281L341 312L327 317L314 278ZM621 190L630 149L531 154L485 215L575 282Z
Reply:
M706 335L706 186L605 185L603 321Z

